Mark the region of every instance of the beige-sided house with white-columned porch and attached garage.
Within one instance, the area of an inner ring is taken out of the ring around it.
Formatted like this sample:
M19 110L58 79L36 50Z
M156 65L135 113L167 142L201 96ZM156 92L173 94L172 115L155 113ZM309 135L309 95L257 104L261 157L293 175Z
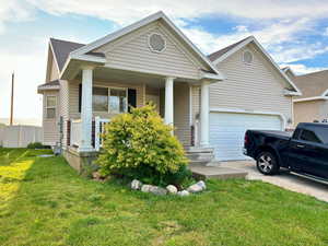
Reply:
M189 153L245 159L245 130L284 129L300 94L254 37L207 57L163 12L87 45L51 38L38 92L44 143L61 142L75 167L96 154L103 124L149 101Z

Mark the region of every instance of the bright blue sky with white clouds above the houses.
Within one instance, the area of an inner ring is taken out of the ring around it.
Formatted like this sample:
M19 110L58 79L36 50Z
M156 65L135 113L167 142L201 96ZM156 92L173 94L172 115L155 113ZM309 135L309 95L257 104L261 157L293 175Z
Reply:
M0 0L0 118L42 119L50 37L91 43L162 10L209 55L254 35L281 67L297 74L328 68L324 0Z

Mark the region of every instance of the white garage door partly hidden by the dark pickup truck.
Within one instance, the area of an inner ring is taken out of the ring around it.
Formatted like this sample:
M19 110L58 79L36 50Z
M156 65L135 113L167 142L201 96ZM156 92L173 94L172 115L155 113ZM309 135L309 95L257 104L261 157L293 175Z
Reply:
M281 130L279 116L235 113L210 114L210 144L219 161L246 160L243 154L247 129Z

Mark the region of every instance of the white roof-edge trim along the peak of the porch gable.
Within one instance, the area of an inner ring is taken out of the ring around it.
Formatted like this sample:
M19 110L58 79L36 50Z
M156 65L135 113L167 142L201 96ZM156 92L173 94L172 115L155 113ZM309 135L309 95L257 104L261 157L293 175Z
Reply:
M214 71L218 75L221 75L221 72L218 71L218 69L213 66L213 63L179 31L179 28L176 27L176 25L162 12L159 11L145 19L142 19L139 22L136 22L129 26L126 26L117 32L114 32L105 37L102 37L89 45L85 45L79 49L75 49L70 54L70 57L74 58L77 56L84 55L91 50L94 50L109 42L113 42L130 32L133 32L134 30L138 30L151 22L157 21L162 19L198 56L199 58L211 68L211 70ZM62 70L65 71L65 69ZM222 77L222 75L221 75ZM223 77L222 77L223 80Z

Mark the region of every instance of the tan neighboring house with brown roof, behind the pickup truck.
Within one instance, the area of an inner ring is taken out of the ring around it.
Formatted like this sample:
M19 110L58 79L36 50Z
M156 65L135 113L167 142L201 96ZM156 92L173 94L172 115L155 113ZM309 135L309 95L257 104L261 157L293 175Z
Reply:
M302 96L294 99L295 126L298 122L328 120L328 70L304 75L293 75L291 79L302 91Z

